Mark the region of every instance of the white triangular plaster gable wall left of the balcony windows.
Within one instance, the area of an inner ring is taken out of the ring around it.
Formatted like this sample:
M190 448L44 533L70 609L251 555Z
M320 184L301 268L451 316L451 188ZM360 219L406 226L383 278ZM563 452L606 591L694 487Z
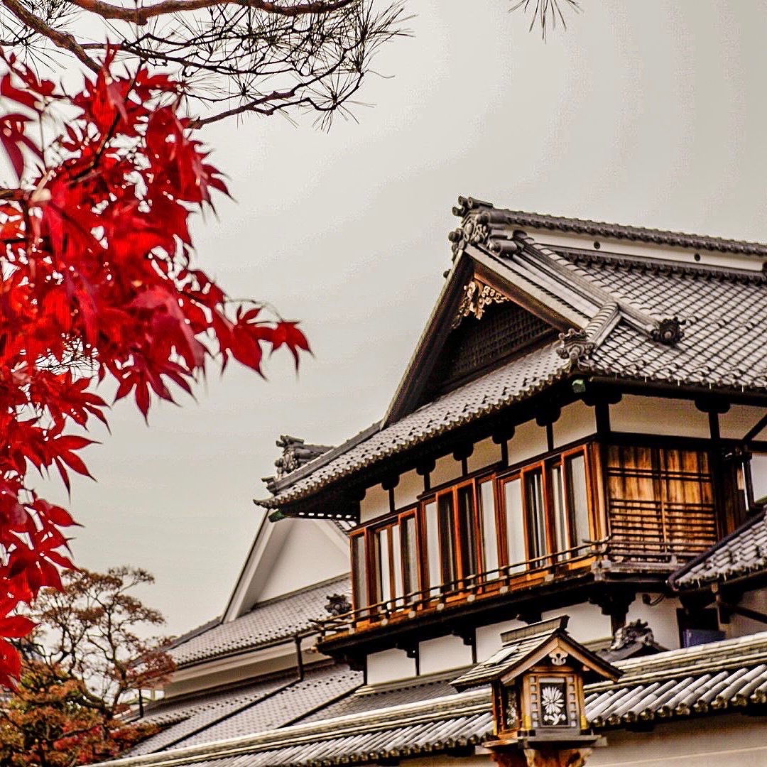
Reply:
M348 544L331 538L321 528L324 522L288 518L275 524L289 525L290 529L258 591L259 602L327 581L349 571Z

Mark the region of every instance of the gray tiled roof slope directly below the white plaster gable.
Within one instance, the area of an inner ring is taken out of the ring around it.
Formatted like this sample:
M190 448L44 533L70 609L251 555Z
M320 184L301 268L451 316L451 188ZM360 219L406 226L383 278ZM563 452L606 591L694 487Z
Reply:
M294 637L310 630L312 621L328 617L324 609L328 594L351 597L348 576L256 604L234 621L219 623L201 634L193 634L173 647L170 654L177 665L186 666Z

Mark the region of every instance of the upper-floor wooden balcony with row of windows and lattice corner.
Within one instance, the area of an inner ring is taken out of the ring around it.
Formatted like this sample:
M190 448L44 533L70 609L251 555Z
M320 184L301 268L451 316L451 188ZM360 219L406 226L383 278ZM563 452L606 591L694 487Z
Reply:
M323 640L604 574L662 583L728 532L710 461L591 440L426 492L352 532L354 604Z

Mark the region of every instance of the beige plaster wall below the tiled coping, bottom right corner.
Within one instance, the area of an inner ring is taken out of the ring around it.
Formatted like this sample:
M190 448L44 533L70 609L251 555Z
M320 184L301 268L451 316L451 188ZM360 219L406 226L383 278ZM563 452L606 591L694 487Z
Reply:
M607 733L588 767L765 767L767 717L704 716L658 724L651 732Z

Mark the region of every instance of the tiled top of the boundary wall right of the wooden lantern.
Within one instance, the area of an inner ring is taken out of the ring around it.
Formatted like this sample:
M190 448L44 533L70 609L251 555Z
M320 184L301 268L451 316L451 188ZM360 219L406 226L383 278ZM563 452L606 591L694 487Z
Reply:
M617 683L586 686L599 729L767 703L767 632L618 661Z

